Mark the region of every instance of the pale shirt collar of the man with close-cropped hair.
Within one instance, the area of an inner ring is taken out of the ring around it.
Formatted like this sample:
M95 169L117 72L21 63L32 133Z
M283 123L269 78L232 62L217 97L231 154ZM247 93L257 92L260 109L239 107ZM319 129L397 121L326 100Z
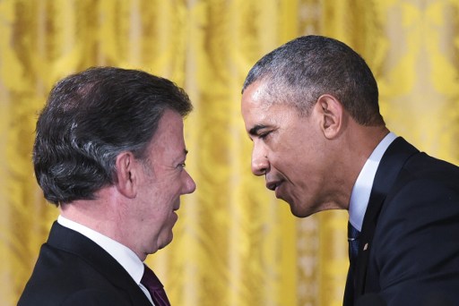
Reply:
M365 212L367 211L369 195L377 174L377 167L379 166L379 162L385 150L389 148L392 141L396 138L397 136L394 132L389 132L385 135L385 138L379 142L377 148L374 149L368 157L367 162L360 170L354 187L352 187L351 200L349 203L349 221L352 226L359 230L359 232L362 229L363 217L365 217Z

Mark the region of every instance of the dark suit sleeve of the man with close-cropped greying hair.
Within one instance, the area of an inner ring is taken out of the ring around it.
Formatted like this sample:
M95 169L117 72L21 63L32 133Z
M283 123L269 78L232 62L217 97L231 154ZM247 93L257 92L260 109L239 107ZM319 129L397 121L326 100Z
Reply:
M459 192L447 180L411 180L387 199L374 256L388 305L459 301Z

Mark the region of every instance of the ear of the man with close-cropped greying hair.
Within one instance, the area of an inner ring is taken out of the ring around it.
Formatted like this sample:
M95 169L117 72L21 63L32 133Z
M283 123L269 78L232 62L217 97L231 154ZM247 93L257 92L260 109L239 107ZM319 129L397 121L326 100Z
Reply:
M331 95L322 95L317 99L316 112L320 116L320 128L325 138L334 139L342 131L344 108L341 102Z

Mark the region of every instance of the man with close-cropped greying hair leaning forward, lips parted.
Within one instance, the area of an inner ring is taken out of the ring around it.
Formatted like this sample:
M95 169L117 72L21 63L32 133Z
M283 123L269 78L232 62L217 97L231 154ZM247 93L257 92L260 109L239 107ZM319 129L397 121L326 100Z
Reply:
M349 209L344 305L459 301L459 168L386 128L355 51L294 39L255 64L242 92L252 172L297 217Z

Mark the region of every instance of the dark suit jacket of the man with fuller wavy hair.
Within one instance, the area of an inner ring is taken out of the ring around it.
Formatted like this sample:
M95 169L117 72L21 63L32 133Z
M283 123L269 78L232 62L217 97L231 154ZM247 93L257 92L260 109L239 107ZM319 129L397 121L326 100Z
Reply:
M107 251L55 222L18 305L152 306L152 303Z

